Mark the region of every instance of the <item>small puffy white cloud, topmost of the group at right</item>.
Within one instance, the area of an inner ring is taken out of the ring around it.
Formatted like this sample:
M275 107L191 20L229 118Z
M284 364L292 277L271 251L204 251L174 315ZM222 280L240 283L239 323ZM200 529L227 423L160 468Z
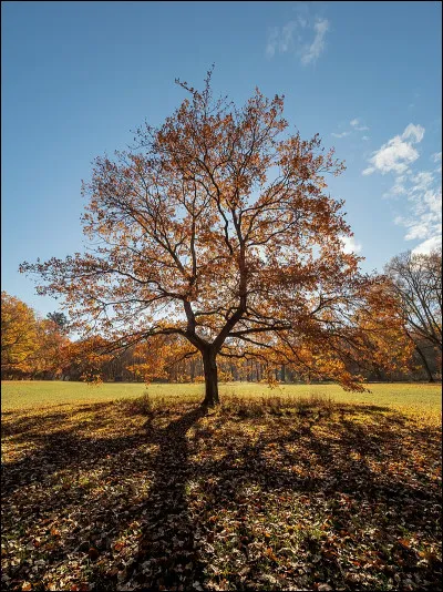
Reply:
M412 144L421 142L423 136L424 127L410 123L402 135L395 135L372 153L369 159L370 166L364 169L362 174L370 175L375 171L382 175L391 172L398 174L406 172L410 164L419 157L419 152Z

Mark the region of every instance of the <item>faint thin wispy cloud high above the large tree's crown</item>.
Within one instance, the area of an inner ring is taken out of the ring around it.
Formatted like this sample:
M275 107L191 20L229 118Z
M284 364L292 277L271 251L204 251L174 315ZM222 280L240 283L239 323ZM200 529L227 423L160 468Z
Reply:
M329 21L316 17L313 21L307 16L299 16L282 27L272 27L268 32L266 55L271 59L276 53L293 53L301 64L315 63L326 49L326 33ZM313 39L309 37L313 33Z

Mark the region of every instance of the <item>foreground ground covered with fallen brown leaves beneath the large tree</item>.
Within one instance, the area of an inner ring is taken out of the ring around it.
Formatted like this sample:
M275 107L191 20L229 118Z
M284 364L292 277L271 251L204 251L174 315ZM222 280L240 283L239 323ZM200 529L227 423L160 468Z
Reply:
M2 412L4 590L441 590L441 418L311 397Z

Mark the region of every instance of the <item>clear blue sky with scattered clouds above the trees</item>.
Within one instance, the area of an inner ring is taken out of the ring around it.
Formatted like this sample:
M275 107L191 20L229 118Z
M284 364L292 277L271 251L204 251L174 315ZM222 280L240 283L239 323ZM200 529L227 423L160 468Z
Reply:
M1 284L45 316L23 261L83 251L92 161L159 125L179 78L243 104L285 94L302 139L346 161L346 247L382 271L441 245L441 2L1 3Z

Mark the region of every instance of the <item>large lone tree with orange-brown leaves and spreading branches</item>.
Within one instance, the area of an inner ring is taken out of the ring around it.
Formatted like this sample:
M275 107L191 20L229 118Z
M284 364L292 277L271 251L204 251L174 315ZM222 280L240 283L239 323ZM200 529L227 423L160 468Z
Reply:
M202 92L177 80L189 98L162 126L96 159L83 184L90 251L20 269L43 279L41 294L62 295L107 353L175 335L179 357L203 359L207 405L218 402L218 356L261 360L270 379L290 364L361 389L346 369L369 351L353 312L380 279L344 253L352 233L324 191L324 175L344 166L318 135L288 133L284 98L256 89L237 109L214 98L210 76Z

